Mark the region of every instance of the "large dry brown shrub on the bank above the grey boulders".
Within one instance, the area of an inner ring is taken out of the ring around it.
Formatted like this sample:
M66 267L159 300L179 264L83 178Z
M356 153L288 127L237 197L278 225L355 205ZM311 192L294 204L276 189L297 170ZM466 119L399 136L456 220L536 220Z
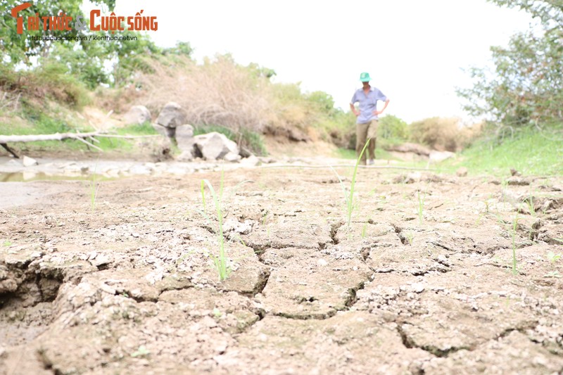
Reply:
M152 61L152 73L137 78L144 104L158 113L167 102L184 109L190 124L213 124L260 131L271 120L269 82L251 69L217 56L202 65L189 58Z

